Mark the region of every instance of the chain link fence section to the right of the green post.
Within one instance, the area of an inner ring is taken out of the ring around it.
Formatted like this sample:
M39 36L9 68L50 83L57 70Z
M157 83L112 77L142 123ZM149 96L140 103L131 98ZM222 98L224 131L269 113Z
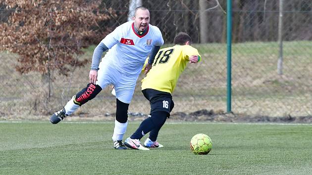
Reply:
M311 0L233 4L233 111L307 116L311 110Z

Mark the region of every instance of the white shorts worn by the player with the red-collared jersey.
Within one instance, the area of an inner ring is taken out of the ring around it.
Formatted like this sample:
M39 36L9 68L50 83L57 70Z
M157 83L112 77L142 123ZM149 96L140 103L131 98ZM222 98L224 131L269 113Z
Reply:
M102 89L110 84L114 85L116 98L121 102L130 103L139 75L133 76L119 72L109 62L104 61L101 61L99 68L96 85L99 85Z

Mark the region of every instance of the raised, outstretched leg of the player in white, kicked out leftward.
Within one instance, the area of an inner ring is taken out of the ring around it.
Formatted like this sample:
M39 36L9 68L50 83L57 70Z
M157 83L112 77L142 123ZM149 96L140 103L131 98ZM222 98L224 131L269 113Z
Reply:
M98 71L98 81L95 84L89 83L86 88L83 88L76 95L74 95L64 106L63 109L54 113L50 121L52 124L57 124L66 116L75 112L81 105L93 99L103 88L111 83L109 73L113 72L112 68L105 65Z

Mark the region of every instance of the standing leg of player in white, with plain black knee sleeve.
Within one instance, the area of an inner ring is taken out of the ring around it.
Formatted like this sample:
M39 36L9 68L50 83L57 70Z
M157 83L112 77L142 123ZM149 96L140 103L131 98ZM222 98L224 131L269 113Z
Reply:
M116 77L116 80L118 79L114 84L116 93L116 120L112 135L113 145L116 149L126 149L121 140L127 130L128 108L134 93L137 78L137 76L129 77L124 74Z

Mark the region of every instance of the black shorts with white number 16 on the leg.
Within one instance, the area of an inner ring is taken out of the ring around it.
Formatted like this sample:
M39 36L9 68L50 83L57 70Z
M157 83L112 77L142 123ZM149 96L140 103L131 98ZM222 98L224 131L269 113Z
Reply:
M170 112L174 107L170 93L151 88L143 89L142 93L150 101L151 114L156 111L165 111L169 114L168 117L170 116Z

